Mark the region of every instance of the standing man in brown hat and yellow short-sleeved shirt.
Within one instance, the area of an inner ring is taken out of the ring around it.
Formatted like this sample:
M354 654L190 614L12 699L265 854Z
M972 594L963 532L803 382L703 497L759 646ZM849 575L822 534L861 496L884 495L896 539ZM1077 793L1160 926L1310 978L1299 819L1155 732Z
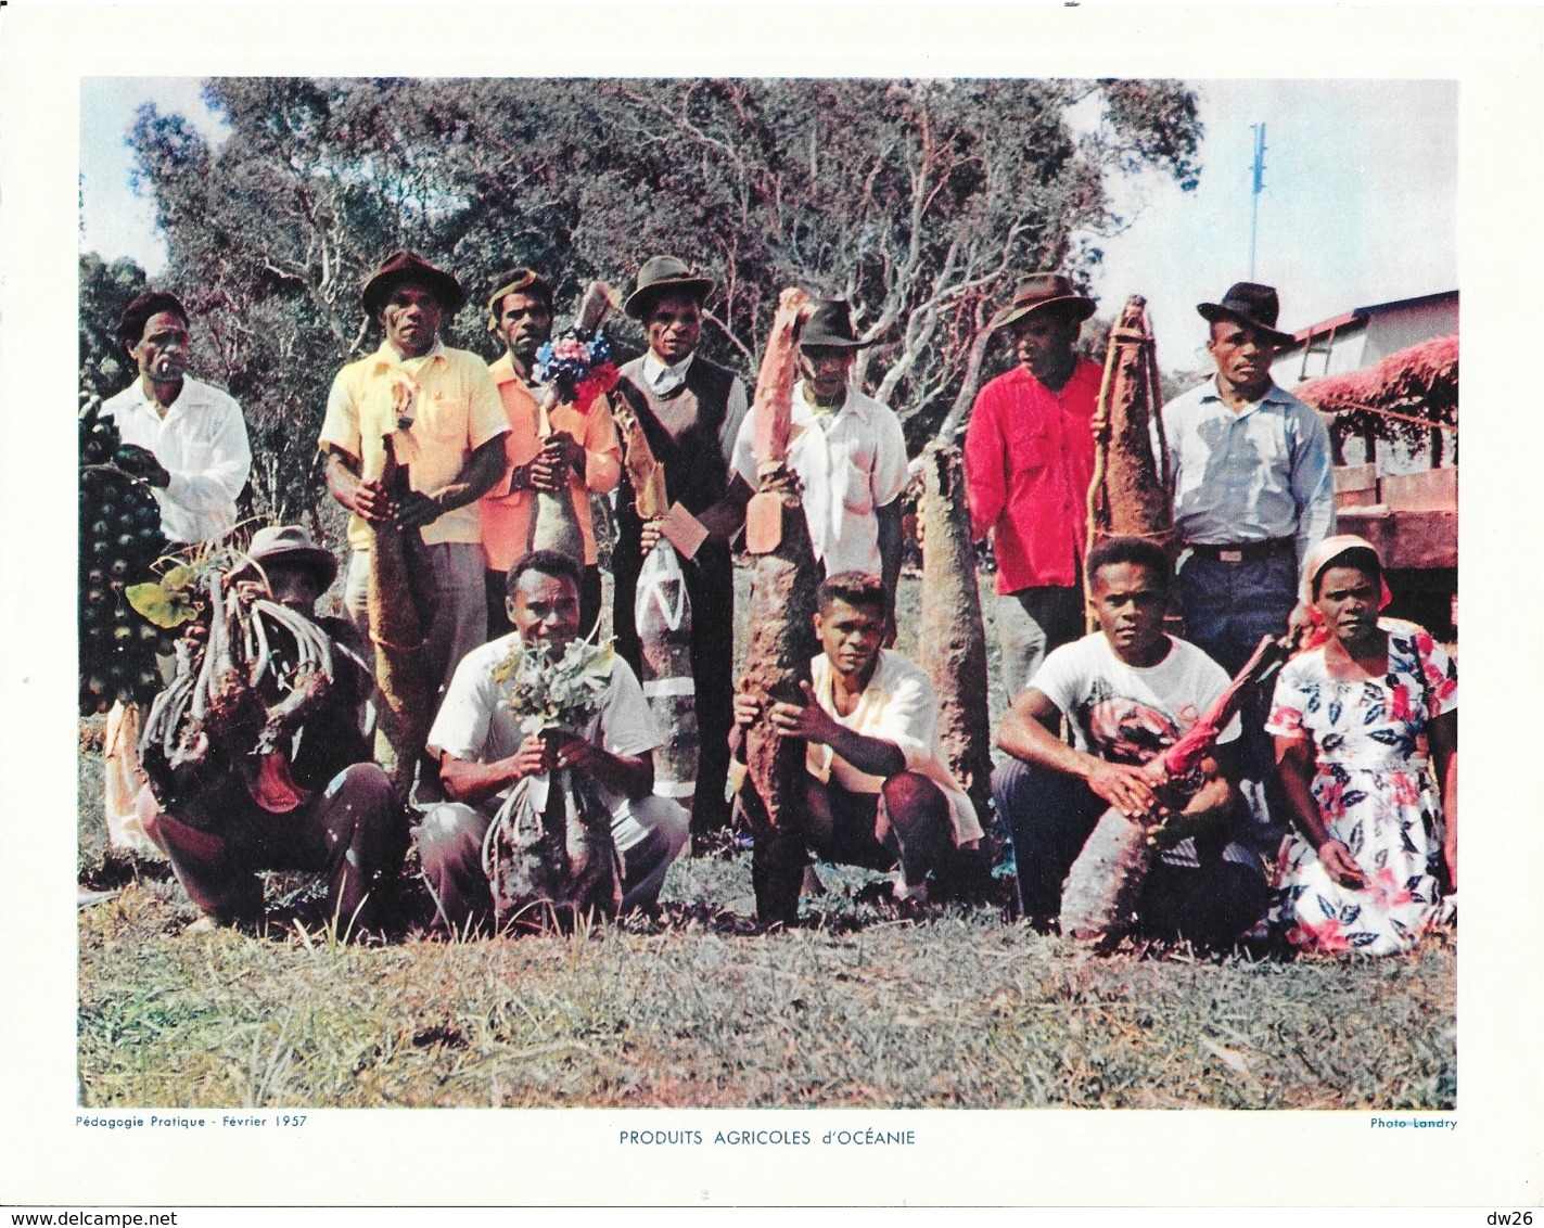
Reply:
M438 594L429 653L442 685L488 637L477 500L503 472L500 437L510 430L483 359L440 341L442 321L462 299L449 273L412 251L392 253L361 295L384 338L375 353L338 372L320 440L327 454L327 487L352 512L354 557L344 588L349 616L367 631L366 521L395 518L405 529L422 531ZM388 437L398 464L408 469L406 498L392 498L378 481Z

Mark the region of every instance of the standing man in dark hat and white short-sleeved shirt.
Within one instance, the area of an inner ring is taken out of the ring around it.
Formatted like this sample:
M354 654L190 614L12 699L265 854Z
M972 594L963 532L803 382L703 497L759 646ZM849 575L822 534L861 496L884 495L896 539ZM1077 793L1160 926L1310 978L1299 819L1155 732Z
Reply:
M906 438L896 412L851 386L860 341L840 299L817 302L798 338L803 378L794 386L789 463L804 484L809 541L826 575L862 571L885 582L894 626L900 575L900 492ZM755 421L735 441L735 472L757 484Z

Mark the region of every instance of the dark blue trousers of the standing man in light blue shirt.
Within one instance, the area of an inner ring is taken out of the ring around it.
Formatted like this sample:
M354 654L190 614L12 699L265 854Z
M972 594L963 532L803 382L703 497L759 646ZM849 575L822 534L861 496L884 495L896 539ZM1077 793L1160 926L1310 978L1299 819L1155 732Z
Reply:
M1223 563L1192 554L1180 572L1184 636L1237 674L1263 636L1286 633L1297 606L1297 555L1283 552L1251 563ZM1265 731L1271 688L1255 687L1238 713L1243 734L1240 790L1252 818L1251 844L1274 859L1291 810L1275 774L1275 747Z

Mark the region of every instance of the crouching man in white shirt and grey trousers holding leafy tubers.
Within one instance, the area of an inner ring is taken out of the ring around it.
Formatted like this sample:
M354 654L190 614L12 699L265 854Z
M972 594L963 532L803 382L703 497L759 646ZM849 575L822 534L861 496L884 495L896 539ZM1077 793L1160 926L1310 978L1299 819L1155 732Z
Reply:
M514 631L466 654L429 728L429 754L440 762L451 801L431 808L414 836L440 929L463 933L493 923L483 839L510 790L527 776L568 768L594 784L611 813L624 910L655 906L665 870L686 845L686 810L653 793L661 736L625 660L613 660L599 711L582 736L522 737L510 711L514 679L499 679L499 666L516 640L545 645L554 657L564 653L579 634L579 565L554 551L516 562L505 585Z

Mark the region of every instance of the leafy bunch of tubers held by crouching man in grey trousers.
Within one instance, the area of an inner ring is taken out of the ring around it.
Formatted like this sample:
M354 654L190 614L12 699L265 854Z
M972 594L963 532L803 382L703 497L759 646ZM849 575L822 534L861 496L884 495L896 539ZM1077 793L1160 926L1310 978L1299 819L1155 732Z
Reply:
M522 736L568 737L601 711L611 663L610 643L576 639L554 659L516 640L494 680L506 687ZM613 915L621 904L611 811L584 773L554 768L519 781L488 828L483 869L500 924L542 929L579 912Z

